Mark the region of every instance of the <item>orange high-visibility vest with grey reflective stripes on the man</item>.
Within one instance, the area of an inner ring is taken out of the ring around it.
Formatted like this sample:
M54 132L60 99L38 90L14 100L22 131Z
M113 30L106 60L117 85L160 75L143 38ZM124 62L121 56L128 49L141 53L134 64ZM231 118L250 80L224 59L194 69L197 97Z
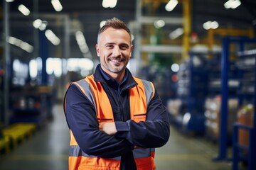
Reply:
M131 120L139 123L146 120L146 107L154 96L154 86L151 82L135 78L137 86L129 89L130 117ZM100 82L94 81L93 75L73 83L89 98L95 106L97 120L101 122L113 122L114 115L110 100L107 97ZM154 148L134 149L134 160L137 170L153 170ZM69 170L117 170L120 169L121 157L100 158L82 152L70 130L70 155L68 158Z

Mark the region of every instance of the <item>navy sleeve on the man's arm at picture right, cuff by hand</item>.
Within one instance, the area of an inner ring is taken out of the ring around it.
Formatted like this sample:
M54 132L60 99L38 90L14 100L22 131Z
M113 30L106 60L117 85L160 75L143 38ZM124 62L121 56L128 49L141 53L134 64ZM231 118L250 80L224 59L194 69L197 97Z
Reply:
M117 137L127 139L137 147L161 147L169 140L170 125L166 107L157 91L149 102L146 121L136 123L134 120L115 122Z

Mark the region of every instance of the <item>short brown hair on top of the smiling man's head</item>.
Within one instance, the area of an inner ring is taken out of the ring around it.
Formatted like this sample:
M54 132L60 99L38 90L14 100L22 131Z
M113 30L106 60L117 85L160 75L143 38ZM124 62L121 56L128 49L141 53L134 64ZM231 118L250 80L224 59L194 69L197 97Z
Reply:
M99 35L101 33L103 33L105 30L107 30L107 28L114 28L114 29L124 29L127 31L127 33L129 34L129 37L131 38L132 40L132 34L131 34L131 31L129 30L129 28L127 27L127 25L119 20L118 18L111 18L111 19L108 19L105 23L105 26L102 26L102 28L100 28L99 32L98 32L98 38L99 38Z

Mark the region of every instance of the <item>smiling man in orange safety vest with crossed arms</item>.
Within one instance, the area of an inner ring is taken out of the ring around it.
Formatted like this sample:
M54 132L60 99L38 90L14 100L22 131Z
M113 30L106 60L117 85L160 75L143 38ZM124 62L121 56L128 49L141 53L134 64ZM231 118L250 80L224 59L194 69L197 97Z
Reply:
M153 84L126 68L132 49L129 28L108 20L98 33L95 74L69 86L69 169L155 169L154 148L169 140L169 119Z

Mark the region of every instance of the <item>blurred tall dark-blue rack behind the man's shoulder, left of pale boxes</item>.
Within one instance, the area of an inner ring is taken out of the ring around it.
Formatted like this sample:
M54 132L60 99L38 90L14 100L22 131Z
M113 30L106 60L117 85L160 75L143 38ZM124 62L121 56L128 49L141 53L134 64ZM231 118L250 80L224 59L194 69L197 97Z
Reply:
M175 123L183 132L205 132L204 106L208 94L208 67L205 53L190 52L188 61L181 64L178 72L177 97L181 110Z

